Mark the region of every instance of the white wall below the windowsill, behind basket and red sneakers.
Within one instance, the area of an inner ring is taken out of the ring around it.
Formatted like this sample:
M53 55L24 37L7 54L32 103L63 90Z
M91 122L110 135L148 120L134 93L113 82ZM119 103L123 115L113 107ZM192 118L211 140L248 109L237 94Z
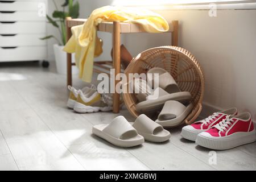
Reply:
M191 51L205 73L205 104L249 110L256 120L256 10L156 11L180 21L179 46ZM130 47L132 48L132 47Z

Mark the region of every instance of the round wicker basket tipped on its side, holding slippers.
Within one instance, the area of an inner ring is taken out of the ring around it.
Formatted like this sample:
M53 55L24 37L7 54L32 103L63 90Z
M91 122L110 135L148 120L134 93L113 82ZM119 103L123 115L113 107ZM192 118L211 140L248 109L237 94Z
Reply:
M199 116L204 95L204 76L201 67L189 51L174 46L155 47L139 53L125 70L129 73L147 73L151 68L159 67L170 72L179 85L181 91L188 91L192 95L193 110L185 119L187 125L195 122ZM138 103L135 94L123 93L123 100L127 109L134 117L139 113L135 110Z

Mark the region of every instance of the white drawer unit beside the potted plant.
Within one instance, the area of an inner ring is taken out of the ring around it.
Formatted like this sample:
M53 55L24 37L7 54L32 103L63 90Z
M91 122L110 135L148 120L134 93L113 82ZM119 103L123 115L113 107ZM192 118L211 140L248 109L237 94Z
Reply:
M0 62L45 60L46 0L0 0Z

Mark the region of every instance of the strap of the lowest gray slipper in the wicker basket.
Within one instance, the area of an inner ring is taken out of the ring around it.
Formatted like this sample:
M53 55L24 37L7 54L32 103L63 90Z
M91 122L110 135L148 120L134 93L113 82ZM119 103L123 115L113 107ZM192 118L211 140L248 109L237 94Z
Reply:
M174 119L182 114L185 109L187 109L187 107L178 101L166 101L162 111L158 115L158 119L161 121Z

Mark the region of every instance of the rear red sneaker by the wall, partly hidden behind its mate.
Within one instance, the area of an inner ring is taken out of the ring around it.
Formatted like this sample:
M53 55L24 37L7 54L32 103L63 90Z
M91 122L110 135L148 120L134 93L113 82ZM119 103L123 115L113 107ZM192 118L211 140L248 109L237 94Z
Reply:
M224 111L213 113L213 115L210 115L208 118L197 121L192 125L184 126L181 130L181 137L195 141L198 134L209 130L210 127L221 122L222 119L226 119L228 115L237 115L237 108L233 107Z

